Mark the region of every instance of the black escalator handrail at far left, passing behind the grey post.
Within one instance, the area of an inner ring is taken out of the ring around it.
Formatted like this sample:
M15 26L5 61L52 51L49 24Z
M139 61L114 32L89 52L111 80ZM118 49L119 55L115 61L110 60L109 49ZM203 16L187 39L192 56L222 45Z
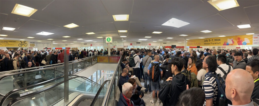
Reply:
M77 76L77 75L69 75L69 76ZM41 84L45 84L45 83L48 83L48 82L50 82L50 81L53 81L53 80L56 80L56 79L59 79L59 78L62 78L62 77L64 77L64 76L60 76L60 77L57 77L57 78L53 78L53 79L51 79L51 80L47 80L47 81L44 81L44 82L41 82L41 83L37 83L37 84L30 85L30 86L22 87L22 88L19 88L19 89L14 89L14 90L12 90L12 91L10 91L10 92L8 92L7 94L4 95L4 98L3 98L3 99L1 100L1 102L0 102L0 106L3 105L4 100L5 100L7 97L9 97L11 94L13 94L13 93L16 92L16 91L20 91L20 90L23 90L23 89L28 89L28 88L33 87L33 86L38 86L38 85L41 85Z

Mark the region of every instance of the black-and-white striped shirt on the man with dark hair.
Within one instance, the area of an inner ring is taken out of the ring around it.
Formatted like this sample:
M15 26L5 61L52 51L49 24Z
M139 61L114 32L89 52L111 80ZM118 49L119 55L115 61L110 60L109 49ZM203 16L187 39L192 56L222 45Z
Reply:
M203 90L205 93L206 99L213 98L213 105L216 104L216 99L218 95L218 86L217 81L215 77L207 77L209 74L214 74L214 72L208 72L205 74L205 80L203 82ZM204 102L204 105L206 105L206 100Z

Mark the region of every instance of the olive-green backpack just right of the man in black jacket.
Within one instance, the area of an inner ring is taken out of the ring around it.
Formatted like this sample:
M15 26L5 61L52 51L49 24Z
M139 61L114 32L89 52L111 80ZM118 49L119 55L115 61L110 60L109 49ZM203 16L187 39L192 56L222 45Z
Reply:
M195 73L191 73L191 70L184 70L182 72L182 74L189 79L189 81L191 83L191 85L189 85L190 88L198 87L198 79L197 79L197 75Z

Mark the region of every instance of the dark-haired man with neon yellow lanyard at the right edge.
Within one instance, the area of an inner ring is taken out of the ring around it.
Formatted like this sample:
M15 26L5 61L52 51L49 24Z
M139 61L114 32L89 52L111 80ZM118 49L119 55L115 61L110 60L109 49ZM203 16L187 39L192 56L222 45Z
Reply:
M259 98L259 63L258 61L250 61L246 64L246 71L249 72L253 79L254 79L254 83L255 83L255 87L252 93L251 98L252 99L258 99Z

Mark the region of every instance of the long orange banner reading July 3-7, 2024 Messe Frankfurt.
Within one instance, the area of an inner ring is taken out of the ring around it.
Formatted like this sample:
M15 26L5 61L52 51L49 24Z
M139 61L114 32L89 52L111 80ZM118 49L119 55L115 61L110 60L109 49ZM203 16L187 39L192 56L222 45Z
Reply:
M187 46L229 46L253 45L253 35L238 35L217 38L192 39L187 41Z

